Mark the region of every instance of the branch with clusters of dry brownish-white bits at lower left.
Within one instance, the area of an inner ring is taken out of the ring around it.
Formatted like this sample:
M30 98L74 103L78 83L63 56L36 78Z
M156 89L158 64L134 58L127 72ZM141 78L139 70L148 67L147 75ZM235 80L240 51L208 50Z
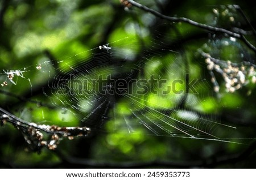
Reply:
M73 139L76 136L88 136L90 134L89 127L37 125L36 123L23 121L2 108L0 108L0 114L0 125L3 126L7 122L11 123L22 132L32 151L40 152L43 147L54 150L63 138ZM43 132L51 137L48 140L44 140Z

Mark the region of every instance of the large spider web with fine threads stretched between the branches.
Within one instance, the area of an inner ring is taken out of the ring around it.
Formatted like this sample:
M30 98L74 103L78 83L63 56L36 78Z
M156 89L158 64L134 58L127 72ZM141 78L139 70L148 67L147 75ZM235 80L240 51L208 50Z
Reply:
M205 65L192 63L172 43L171 33L155 34L110 37L108 44L3 74L13 84L17 76L27 79L31 88L27 72L47 74L43 93L52 105L75 114L94 132L240 142L244 137L236 125L221 122L220 109L207 112L201 103L209 100L217 107L212 85L199 71Z

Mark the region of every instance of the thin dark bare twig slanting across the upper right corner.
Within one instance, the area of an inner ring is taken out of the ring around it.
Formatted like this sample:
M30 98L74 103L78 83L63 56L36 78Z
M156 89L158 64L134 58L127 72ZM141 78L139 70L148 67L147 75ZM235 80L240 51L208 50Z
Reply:
M255 46L252 45L249 41L247 41L246 38L242 36L242 34L238 34L238 33L232 32L232 31L228 31L227 29L224 29L224 28L217 28L217 27L213 27L213 26L210 26L210 25L197 23L197 22L195 22L191 19L188 19L188 18L176 18L176 17L166 16L166 15L161 14L158 11L152 10L151 8L149 8L147 6L144 6L144 5L141 5L140 3L135 2L133 0L127 0L127 1L135 7L138 7L138 8L141 8L142 10L144 10L144 11L150 12L151 14L154 14L155 16L158 16L159 18L170 20L171 22L184 22L184 23L188 23L188 24L194 25L194 26L199 27L199 28L207 29L208 31L213 31L213 32L218 32L218 33L225 33L226 35L233 36L233 37L236 37L236 38L240 38L241 40L243 40L245 42L245 44L250 49L252 49L252 50L254 50L254 52L256 52Z

